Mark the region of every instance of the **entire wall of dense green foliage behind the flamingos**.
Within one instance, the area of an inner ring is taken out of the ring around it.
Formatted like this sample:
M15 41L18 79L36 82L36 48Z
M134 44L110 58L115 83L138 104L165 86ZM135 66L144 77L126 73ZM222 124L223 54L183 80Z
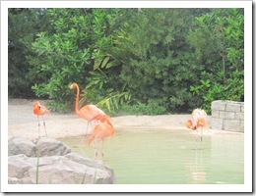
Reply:
M243 101L243 9L21 9L11 20L9 95L33 90L51 110L73 110L72 82L81 105L111 113L210 112L216 99ZM15 23L31 25L19 40Z

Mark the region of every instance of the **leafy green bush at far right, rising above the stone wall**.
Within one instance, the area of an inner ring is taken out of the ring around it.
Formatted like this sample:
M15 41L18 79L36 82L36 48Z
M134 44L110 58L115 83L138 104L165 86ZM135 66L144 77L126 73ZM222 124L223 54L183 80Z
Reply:
M243 10L212 10L197 18L197 23L188 40L198 64L207 67L190 90L203 98L202 106L210 114L214 100L244 100Z

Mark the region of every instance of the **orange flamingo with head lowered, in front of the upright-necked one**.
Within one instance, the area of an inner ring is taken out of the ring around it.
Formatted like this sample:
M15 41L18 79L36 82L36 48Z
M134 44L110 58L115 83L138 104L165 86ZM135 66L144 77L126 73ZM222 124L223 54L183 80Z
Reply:
M101 139L101 156L103 159L103 142L105 137L110 137L114 134L115 128L112 124L111 118L107 115L101 117L101 123L96 124L91 134L87 138L87 143L90 143L95 139L95 159L97 157L96 139Z

